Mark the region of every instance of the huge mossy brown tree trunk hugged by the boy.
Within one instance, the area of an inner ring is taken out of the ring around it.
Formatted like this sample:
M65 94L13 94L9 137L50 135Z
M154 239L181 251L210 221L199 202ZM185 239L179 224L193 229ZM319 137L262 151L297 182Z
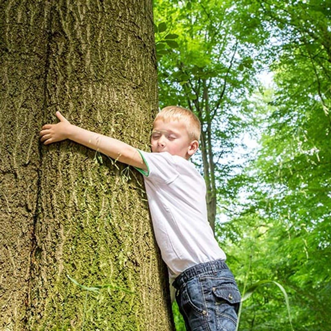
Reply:
M149 149L152 3L14 0L0 9L0 329L171 330L140 175L69 141L38 142L60 110ZM87 291L67 275L109 286Z

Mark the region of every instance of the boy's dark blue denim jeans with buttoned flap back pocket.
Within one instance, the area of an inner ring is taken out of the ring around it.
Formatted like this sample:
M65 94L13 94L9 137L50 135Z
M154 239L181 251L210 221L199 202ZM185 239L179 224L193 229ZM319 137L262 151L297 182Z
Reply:
M187 331L234 331L240 293L222 260L200 263L184 270L172 284Z

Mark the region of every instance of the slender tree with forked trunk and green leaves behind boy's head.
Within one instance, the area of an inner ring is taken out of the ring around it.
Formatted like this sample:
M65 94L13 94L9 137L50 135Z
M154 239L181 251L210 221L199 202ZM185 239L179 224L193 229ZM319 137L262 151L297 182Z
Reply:
M217 209L227 205L222 197L236 167L229 155L256 85L253 46L257 50L263 37L249 32L247 38L237 23L241 16L233 1L159 1L155 9L160 103L189 108L202 123L201 158L194 161L205 177L213 230Z

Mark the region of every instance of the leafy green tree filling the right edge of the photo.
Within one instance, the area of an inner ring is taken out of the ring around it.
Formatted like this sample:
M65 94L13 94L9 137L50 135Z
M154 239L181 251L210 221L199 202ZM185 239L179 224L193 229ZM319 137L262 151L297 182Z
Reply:
M237 233L231 251L242 284L278 281L288 291L295 330L329 330L330 4L242 6L269 30L265 62L275 84L253 102L261 147L234 180L244 179L246 208L232 218L236 225L220 231ZM281 294L274 292L261 288L245 303L241 328L290 328Z

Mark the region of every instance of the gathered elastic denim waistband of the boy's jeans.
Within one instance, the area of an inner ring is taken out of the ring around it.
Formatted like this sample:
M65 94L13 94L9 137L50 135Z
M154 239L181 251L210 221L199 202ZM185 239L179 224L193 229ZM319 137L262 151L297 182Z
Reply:
M228 269L227 264L224 260L214 260L204 263L199 263L185 269L180 275L173 281L172 286L179 290L186 282L190 279L202 275L204 273L217 274L220 269Z

